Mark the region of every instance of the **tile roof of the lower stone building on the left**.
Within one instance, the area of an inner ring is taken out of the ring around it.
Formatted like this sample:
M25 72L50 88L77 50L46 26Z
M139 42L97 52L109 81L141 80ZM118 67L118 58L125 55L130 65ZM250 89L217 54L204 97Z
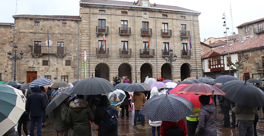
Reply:
M72 16L72 15L13 15L13 17L54 18L54 19L81 19L80 16Z

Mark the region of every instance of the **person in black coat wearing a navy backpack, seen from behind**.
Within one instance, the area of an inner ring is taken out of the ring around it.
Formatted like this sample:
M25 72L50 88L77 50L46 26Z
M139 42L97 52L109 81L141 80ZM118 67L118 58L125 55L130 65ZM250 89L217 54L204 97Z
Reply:
M117 136L117 126L118 126L118 122L117 124L113 124L113 126L116 126L114 128L108 129L107 126L105 124L109 123L109 120L107 119L107 112L106 110L111 110L114 109L114 111L116 112L115 107L110 105L110 101L107 98L106 95L102 95L100 97L100 100L98 102L98 109L96 110L96 114L95 114L95 120L94 122L96 124L99 124L99 128L98 128L98 136ZM117 114L117 112L116 112ZM118 114L117 114L118 116ZM117 118L116 118L117 119Z

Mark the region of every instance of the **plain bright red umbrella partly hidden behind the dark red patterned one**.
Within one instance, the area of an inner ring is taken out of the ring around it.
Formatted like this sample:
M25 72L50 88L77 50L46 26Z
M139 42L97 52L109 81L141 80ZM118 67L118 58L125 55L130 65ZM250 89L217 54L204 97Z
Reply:
M192 104L194 104L194 107L201 107L201 103L199 101L199 96L201 96L201 94L196 95L196 94L180 94L180 93L178 93L179 90L181 90L182 88L184 88L186 86L188 86L188 84L184 84L184 83L180 84L177 87L169 90L168 93L169 94L176 94L176 95L178 95L180 97L186 98ZM211 98L209 104L211 104L212 102L214 102L214 101Z

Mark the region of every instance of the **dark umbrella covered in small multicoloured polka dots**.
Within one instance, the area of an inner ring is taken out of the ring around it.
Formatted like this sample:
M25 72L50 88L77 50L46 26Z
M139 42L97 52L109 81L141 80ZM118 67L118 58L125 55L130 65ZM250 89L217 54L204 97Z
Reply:
M188 115L194 114L193 104L175 94L161 94L147 100L140 110L151 121L178 122Z

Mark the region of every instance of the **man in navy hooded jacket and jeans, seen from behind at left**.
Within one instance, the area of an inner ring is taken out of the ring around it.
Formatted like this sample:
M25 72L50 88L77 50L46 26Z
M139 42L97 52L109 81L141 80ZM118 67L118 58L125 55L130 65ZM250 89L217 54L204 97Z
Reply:
M39 86L34 86L33 93L29 95L26 107L30 111L30 135L34 136L34 127L35 121L37 121L37 134L41 136L41 128L42 128L42 117L44 115L44 111L46 110L46 100L44 95L40 94Z

